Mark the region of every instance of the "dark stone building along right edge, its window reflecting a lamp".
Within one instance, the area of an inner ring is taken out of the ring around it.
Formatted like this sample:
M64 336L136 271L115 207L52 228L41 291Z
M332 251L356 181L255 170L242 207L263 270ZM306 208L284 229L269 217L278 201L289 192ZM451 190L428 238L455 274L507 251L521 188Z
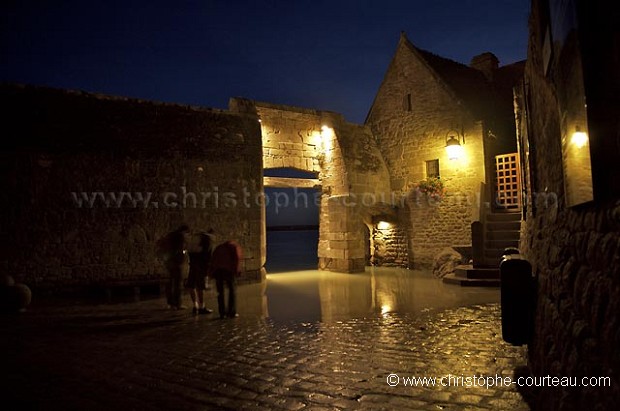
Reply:
M537 296L534 409L620 407L620 35L603 2L534 0L516 89ZM585 379L584 379L585 378ZM587 386L586 386L587 385Z

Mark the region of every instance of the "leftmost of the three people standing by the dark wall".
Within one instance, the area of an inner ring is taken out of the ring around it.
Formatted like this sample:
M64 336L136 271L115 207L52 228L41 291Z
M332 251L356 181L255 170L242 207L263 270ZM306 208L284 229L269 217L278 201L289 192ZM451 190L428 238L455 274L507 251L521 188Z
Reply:
M164 260L164 265L168 271L168 287L166 296L168 305L173 309L183 309L182 284L184 277L187 276L189 257L187 255L187 236L189 226L183 224L176 230L168 233L158 242L158 252Z

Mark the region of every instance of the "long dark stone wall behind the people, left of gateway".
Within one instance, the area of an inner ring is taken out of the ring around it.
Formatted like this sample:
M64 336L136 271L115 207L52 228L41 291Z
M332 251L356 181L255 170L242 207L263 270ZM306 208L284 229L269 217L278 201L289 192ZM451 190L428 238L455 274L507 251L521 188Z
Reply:
M237 239L260 280L255 116L20 86L2 100L2 271L33 287L157 278L154 242L186 222Z

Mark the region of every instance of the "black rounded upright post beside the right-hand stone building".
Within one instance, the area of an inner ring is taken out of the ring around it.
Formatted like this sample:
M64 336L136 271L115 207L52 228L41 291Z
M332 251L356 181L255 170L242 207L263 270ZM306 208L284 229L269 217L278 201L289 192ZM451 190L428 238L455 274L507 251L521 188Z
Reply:
M499 269L502 338L512 345L527 344L532 336L534 320L532 265L514 249L506 249Z

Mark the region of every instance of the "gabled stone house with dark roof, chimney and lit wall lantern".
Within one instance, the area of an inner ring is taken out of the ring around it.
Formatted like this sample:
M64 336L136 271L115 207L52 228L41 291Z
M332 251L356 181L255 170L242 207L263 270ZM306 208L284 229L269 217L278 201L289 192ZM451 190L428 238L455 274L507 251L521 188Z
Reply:
M495 158L516 152L512 86L523 65L498 67L497 58L484 53L468 67L401 34L366 125L385 159L390 189L408 199L392 225L406 234L397 246L409 267L431 266L447 247L471 246L471 224L503 205L494 201ZM460 146L460 157L449 155L450 143ZM441 201L416 190L434 177L446 191Z

